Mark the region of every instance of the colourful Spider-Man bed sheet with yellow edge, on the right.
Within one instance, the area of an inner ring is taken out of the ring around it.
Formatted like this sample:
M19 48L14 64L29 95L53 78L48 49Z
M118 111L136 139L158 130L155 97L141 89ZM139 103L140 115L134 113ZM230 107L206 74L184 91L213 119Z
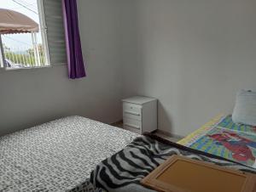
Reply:
M256 127L236 124L230 115L218 116L178 144L256 168Z

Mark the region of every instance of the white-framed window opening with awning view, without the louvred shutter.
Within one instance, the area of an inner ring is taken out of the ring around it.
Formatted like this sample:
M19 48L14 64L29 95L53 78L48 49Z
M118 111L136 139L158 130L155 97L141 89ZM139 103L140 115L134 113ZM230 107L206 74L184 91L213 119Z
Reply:
M2 67L20 69L49 66L42 0L0 2Z

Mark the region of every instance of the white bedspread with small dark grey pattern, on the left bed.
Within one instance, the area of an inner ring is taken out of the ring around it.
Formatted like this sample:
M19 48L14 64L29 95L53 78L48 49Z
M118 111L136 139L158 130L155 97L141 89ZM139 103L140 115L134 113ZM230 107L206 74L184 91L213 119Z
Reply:
M96 165L137 136L80 116L3 136L0 191L89 191Z

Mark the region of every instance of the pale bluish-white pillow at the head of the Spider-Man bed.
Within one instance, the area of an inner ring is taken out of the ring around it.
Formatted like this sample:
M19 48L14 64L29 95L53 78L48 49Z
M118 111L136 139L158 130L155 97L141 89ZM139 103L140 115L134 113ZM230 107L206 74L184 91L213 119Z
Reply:
M236 123L256 126L256 92L241 90L236 94L232 120Z

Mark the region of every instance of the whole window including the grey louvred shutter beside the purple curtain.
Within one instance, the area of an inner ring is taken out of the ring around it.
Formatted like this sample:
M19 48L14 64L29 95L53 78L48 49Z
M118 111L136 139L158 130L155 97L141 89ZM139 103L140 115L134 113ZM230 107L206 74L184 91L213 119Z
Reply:
M66 64L61 0L0 0L0 50L7 70Z

